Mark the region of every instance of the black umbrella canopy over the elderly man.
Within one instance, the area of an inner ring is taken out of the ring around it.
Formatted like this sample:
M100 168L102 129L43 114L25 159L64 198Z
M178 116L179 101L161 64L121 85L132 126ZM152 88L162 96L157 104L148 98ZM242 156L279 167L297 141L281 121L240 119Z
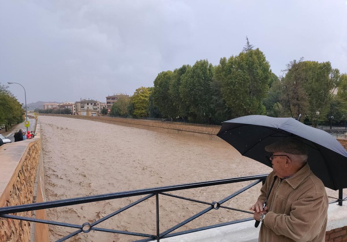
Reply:
M307 126L293 118L249 115L222 123L218 137L247 156L272 167L265 146L284 137L300 138L307 146L308 164L325 187L347 188L347 151L329 133Z

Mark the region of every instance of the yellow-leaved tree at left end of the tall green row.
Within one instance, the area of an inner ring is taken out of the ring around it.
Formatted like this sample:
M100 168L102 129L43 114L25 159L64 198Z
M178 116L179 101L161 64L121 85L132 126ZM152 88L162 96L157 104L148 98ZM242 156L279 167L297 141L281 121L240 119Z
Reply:
M138 117L147 117L149 114L149 96L150 91L147 87L139 87L135 90L132 97L134 104L133 114Z

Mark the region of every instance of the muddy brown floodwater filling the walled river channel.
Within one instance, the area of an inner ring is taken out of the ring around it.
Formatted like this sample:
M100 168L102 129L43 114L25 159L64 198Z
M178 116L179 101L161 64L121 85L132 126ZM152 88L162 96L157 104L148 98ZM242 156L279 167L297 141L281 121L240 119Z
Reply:
M271 172L271 168L242 157L226 142L63 117L40 116L40 122L48 200ZM249 183L171 193L212 202ZM259 196L260 187L261 184L254 186L225 205L248 210ZM335 191L328 192L337 196ZM48 217L79 225L92 223L139 198L51 208L47 210ZM163 195L159 196L159 204L160 232L208 207ZM175 232L246 217L250 214L213 209ZM155 197L152 197L98 224L98 227L156 234L155 223ZM76 231L53 225L49 228L51 241ZM67 241L134 241L143 238L91 231L79 233Z

